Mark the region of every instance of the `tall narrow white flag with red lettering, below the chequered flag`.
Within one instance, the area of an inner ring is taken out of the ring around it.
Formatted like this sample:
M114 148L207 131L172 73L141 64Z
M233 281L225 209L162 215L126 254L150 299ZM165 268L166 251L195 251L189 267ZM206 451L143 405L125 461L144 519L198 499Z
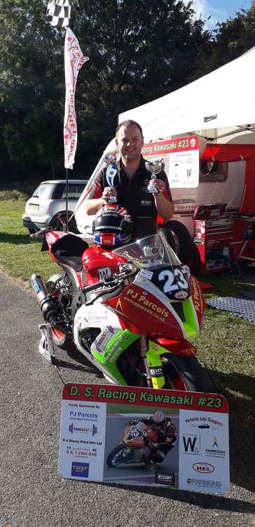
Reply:
M66 99L64 107L64 167L72 169L77 146L75 90L78 72L88 60L84 57L78 39L68 28L64 42L64 72Z

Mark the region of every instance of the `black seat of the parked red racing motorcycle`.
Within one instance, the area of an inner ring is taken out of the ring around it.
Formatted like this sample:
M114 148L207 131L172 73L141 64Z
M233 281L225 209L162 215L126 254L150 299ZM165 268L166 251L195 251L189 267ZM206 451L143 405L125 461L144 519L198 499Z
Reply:
M71 266L76 272L83 268L81 256L85 249L88 249L88 243L74 234L67 234L58 238L51 246L54 258L60 263Z

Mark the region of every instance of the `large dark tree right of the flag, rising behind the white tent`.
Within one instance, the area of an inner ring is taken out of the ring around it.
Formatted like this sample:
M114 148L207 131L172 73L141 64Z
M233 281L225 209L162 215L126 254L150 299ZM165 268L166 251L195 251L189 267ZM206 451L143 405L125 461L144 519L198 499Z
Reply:
M83 134L104 145L120 112L189 81L210 37L191 5L174 0L76 0L71 27L90 55L78 82Z

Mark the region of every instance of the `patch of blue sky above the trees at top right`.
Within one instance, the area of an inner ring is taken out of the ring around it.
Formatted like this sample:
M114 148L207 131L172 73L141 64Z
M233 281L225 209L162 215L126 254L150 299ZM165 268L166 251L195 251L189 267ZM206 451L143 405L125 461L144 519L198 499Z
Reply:
M213 29L217 22L226 22L227 18L235 18L235 13L242 8L249 9L252 0L193 0L193 7L197 16L207 22L207 28Z

